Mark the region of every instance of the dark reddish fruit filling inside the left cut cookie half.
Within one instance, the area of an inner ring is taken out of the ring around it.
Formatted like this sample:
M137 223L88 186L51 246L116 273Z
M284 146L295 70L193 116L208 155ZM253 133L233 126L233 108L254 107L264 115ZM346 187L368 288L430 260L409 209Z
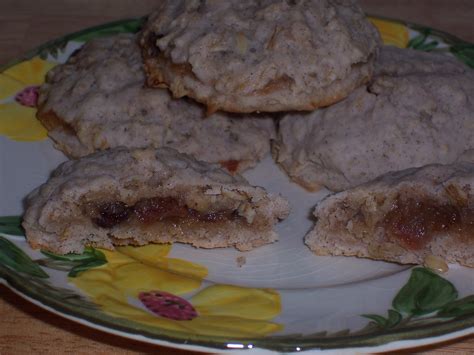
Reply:
M122 201L91 202L86 205L84 212L96 226L101 228L112 228L131 220L141 225L160 221L177 223L192 220L216 223L245 220L237 209L200 212L173 197L144 198L132 206Z

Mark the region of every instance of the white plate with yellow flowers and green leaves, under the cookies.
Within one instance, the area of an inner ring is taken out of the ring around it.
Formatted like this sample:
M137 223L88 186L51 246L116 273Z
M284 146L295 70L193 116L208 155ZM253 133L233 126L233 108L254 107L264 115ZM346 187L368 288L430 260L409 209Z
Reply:
M371 18L387 44L448 52L474 67L474 46L429 28ZM474 273L316 257L303 244L308 193L267 157L244 175L292 206L280 241L241 253L186 245L87 249L65 256L29 248L22 200L66 160L35 119L45 73L85 41L136 32L143 19L48 42L0 69L0 282L76 322L153 344L201 351L382 351L474 333Z

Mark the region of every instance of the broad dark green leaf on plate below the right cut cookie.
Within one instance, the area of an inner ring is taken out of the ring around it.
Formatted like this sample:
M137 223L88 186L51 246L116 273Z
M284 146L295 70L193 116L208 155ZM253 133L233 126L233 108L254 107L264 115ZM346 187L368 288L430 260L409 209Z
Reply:
M458 297L449 281L425 268L416 268L410 279L395 296L395 310L411 315L423 315L443 308Z

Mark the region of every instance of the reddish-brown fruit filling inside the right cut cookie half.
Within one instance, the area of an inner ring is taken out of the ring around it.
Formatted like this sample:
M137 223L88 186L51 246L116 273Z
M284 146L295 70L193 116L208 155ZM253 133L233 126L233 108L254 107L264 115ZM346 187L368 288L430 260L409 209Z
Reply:
M440 204L429 198L397 198L381 224L390 239L400 241L408 249L419 250L439 233L472 237L474 210L468 206Z

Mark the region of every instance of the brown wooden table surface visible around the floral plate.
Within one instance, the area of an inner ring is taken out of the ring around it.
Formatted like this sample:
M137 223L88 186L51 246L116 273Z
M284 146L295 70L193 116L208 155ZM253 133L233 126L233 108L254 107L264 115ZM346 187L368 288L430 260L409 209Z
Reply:
M472 0L361 0L366 12L411 21L474 42ZM1 0L0 65L69 32L141 16L156 0ZM0 286L0 354L167 353L190 354L123 339L47 312ZM410 353L414 351L405 351ZM430 354L468 354L474 336L416 349Z

